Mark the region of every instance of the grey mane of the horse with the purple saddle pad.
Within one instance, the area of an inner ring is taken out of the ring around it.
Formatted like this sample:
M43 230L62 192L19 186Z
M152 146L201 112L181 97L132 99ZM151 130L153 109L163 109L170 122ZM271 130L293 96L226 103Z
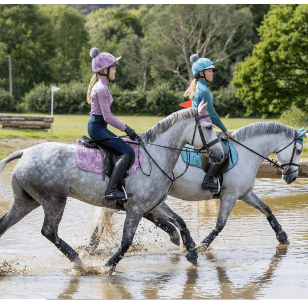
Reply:
M180 120L195 117L196 114L197 108L195 107L190 107L187 109L173 112L171 115L168 115L166 118L156 123L147 131L138 134L138 136L144 137L146 142L152 142L159 134L166 132L168 128L170 128L173 124L177 123Z

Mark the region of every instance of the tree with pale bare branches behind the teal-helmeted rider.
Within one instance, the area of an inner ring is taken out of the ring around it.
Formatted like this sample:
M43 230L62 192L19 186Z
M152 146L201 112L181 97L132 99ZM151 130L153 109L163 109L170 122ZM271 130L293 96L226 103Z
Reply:
M250 10L237 10L235 4L155 5L143 23L155 56L156 77L175 75L186 85L193 77L189 57L194 53L229 67L227 59L252 45L247 40L251 22Z

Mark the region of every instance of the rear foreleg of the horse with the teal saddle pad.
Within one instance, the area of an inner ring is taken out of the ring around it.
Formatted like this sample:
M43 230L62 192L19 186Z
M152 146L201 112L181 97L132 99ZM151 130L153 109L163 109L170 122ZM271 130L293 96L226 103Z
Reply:
M218 216L217 216L217 222L215 229L213 229L197 246L197 249L208 249L211 243L214 241L214 239L217 237L217 235L224 229L228 217L231 213L231 210L233 209L233 206L236 203L236 198L231 197L227 198L224 196L221 196L220 200L220 206L218 210Z

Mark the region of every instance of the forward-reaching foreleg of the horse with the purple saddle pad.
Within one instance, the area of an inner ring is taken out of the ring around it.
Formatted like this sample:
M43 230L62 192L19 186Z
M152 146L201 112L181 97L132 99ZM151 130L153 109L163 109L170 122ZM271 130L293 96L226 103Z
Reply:
M187 250L185 257L189 262L196 265L198 254L195 249L195 243L190 236L189 230L186 227L185 221L179 215L174 213L172 209L170 209L164 202L154 208L151 213L166 221L170 221L180 229L181 238Z

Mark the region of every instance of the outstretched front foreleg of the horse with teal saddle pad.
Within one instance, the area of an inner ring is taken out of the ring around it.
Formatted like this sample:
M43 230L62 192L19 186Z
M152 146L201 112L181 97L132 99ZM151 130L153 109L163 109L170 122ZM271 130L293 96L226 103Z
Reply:
M241 201L244 201L248 205L251 205L255 209L260 210L266 216L267 220L270 223L270 226L276 233L277 240L280 243L287 244L289 242L286 232L282 230L281 225L279 225L276 217L274 216L270 208L263 201L261 201L253 191L246 193L244 196L240 197L239 199Z

